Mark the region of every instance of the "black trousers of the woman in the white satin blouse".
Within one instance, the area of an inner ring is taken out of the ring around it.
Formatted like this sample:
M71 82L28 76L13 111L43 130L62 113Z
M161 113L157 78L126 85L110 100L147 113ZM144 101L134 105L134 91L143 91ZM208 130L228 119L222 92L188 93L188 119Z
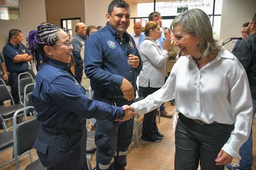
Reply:
M181 119L183 117L183 119ZM203 125L179 114L175 130L175 170L223 170L214 161L229 139L234 125L211 123Z

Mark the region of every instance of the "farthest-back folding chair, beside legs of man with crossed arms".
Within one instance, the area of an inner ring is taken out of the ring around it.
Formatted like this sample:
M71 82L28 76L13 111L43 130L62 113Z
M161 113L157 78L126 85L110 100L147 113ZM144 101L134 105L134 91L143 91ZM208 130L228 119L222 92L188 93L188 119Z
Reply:
M21 73L18 76L18 91L19 91L19 101L24 104L24 89L27 84L35 83L35 80L29 72ZM27 87L27 92L32 92L34 86Z

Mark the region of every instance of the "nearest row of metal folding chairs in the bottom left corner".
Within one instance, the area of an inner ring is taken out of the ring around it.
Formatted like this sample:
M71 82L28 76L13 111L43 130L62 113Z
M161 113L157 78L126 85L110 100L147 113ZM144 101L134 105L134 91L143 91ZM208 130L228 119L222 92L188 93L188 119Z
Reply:
M31 117L29 120L24 119L23 122L17 123L20 115L27 117L27 112L33 114L34 117ZM33 148L35 138L37 137L37 128L39 127L37 119L35 118L35 113L33 106L27 106L17 110L13 115L13 132L8 130L0 133L0 152L13 148L12 159L1 164L0 168L15 160L16 168L19 170L21 169L19 165L19 158L25 154L29 154L30 164L26 166L26 170L47 169L42 166L39 159L32 161L32 154L30 150ZM3 122L1 117L0 122Z

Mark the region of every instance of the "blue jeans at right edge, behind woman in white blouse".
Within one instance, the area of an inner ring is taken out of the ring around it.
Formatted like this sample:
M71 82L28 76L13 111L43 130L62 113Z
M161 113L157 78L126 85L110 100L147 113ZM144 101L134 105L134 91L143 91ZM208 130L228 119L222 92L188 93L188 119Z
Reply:
M256 112L256 100L252 99L253 104L253 117ZM240 168L242 169L252 169L252 128L250 130L250 135L247 141L241 146L239 154L242 157L239 161Z

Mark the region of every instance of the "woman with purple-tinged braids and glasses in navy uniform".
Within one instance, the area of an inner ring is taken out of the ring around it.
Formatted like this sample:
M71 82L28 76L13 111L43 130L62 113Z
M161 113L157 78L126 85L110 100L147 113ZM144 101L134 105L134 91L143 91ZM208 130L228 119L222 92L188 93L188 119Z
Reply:
M70 38L59 27L39 25L30 32L30 48L39 66L32 93L39 130L34 148L47 169L88 169L85 121L92 117L129 120L134 112L92 101L70 71Z

